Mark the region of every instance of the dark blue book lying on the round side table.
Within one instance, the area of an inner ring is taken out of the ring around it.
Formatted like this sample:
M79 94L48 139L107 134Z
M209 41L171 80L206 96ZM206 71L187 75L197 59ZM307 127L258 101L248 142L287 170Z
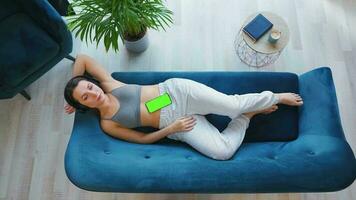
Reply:
M260 39L269 29L271 29L273 24L262 14L258 14L250 23L248 23L243 31L256 42Z

